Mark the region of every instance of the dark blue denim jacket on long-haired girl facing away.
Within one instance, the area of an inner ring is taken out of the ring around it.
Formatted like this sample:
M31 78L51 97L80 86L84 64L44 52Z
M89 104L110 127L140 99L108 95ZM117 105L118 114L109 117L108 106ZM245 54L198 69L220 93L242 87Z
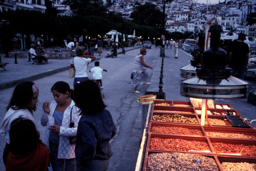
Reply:
M115 134L116 127L108 110L103 109L93 115L82 115L76 135L77 168L94 160L109 159L112 156L109 141Z

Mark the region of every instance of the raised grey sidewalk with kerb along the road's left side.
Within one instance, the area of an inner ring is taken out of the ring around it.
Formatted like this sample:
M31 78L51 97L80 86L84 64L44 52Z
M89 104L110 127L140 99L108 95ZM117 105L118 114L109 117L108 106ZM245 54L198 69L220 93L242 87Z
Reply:
M139 46L142 47L142 46ZM131 51L139 47L125 47L125 51ZM122 48L117 50L118 54L121 54ZM95 53L96 60L101 58L109 58L108 51L102 50L102 55L98 56L98 53ZM111 54L111 52L109 52ZM4 58L5 54L1 55L2 62L8 62L3 68L0 68L0 90L5 88L10 88L15 86L20 81L32 81L40 79L57 72L68 70L70 66L71 59L49 59L49 64L37 65L36 63L32 64L33 61L28 62L28 58L17 58L17 64L14 64L14 58ZM61 62L59 62L61 60Z

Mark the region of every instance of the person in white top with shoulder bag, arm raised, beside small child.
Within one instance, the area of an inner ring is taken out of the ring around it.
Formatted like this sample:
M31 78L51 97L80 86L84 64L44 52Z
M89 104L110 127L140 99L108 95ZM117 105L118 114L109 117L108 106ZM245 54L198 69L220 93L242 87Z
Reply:
M78 81L82 82L82 81L88 80L88 75L86 72L87 65L89 65L90 62L96 59L96 57L84 55L84 53L85 52L83 47L76 48L77 56L74 57L74 66L75 66L75 79L73 83L74 87Z

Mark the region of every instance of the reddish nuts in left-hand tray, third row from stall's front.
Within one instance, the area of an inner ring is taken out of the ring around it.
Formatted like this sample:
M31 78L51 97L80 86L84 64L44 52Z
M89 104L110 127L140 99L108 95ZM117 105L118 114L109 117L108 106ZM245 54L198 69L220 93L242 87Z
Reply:
M152 126L151 132L162 134L203 135L202 131L199 129L188 129L183 127Z

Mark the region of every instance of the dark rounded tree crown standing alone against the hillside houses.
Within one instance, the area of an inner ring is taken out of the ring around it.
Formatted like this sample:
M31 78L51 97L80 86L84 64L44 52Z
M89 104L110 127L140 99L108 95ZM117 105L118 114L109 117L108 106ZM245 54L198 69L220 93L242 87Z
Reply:
M134 23L142 26L161 27L163 13L156 8L156 5L145 3L135 8L131 14Z

